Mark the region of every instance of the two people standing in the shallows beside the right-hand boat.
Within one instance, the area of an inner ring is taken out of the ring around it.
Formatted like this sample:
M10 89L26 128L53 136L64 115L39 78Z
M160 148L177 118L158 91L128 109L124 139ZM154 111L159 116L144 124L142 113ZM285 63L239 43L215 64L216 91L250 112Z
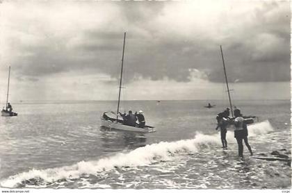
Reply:
M233 118L229 118L229 114L230 109L227 108L223 112L220 112L216 117L218 122L216 130L220 128L222 148L227 149L227 126L229 124L234 124L234 137L236 138L236 142L238 144L238 156L243 157L243 141L250 151L250 156L252 156L252 148L250 147L250 144L248 144L248 126L245 123L243 115L241 115L241 110L235 108Z

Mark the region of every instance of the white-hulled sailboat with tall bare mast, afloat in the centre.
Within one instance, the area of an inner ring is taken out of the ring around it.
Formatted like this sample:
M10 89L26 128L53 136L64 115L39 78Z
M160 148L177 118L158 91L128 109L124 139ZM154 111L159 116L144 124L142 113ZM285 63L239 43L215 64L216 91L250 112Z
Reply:
M121 67L121 73L120 73L120 90L119 90L119 97L117 101L117 112L104 112L101 121L102 121L102 127L110 128L110 129L117 129L121 131L133 131L133 132L140 132L140 133L153 133L156 130L153 126L147 126L145 125L143 128L139 128L136 126L127 126L123 124L123 119L119 115L120 110L120 97L121 97L121 88L122 88L122 69L124 65L124 46L126 42L126 33L124 33L124 44L122 47L122 67Z

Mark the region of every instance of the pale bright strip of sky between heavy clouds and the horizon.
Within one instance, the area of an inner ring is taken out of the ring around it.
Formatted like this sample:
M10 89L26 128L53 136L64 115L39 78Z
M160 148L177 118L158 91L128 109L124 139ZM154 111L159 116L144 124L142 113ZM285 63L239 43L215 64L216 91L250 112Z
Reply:
M17 80L10 77L11 101L59 100L117 100L118 81L107 74L80 75L79 72L62 72L42 76L37 82L29 77ZM164 77L158 81L136 76L123 85L122 100L225 100L228 101L225 83L204 80L205 74L190 69L190 81L178 82ZM6 100L7 79L0 80L0 101ZM290 84L279 83L230 83L232 99L290 99ZM261 93L261 94L258 94Z

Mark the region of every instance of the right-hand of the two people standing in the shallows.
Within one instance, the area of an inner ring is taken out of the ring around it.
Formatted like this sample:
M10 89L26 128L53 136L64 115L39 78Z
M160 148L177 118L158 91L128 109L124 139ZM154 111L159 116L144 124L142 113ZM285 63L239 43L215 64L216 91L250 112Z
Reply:
M243 115L241 115L241 110L236 108L234 110L234 117L234 137L238 144L238 156L243 158L243 140L250 151L250 156L252 156L252 148L248 144L248 126L243 119Z

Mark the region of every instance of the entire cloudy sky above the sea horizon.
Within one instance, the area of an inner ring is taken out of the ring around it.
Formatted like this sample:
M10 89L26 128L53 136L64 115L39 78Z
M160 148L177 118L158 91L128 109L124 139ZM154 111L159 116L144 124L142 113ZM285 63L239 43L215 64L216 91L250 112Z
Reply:
M0 3L0 101L290 99L289 1Z

